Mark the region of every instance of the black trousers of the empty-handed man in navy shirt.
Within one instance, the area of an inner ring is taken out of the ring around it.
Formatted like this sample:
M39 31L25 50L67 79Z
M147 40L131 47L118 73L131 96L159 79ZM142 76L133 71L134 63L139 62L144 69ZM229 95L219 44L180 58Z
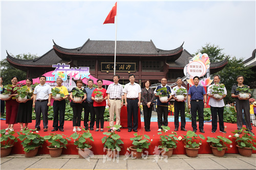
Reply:
M192 117L192 128L197 130L197 111L199 118L199 129L204 129L204 102L203 101L191 101L191 117Z

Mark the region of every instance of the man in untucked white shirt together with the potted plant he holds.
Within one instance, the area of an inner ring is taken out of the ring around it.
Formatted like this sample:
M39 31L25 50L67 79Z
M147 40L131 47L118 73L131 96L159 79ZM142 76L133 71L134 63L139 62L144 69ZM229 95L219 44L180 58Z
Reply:
M223 123L224 101L223 98L227 95L227 90L224 84L219 84L221 77L219 75L214 76L214 84L210 85L207 90L207 95L210 97L209 105L211 111L211 133L215 133L217 130L217 114L219 116L220 132L226 133ZM219 94L220 96L216 96Z

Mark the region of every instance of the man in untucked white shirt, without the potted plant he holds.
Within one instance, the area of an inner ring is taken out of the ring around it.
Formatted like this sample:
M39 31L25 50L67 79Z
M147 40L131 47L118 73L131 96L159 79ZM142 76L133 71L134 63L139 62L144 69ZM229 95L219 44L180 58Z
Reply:
M221 77L219 75L214 76L214 84L218 85L220 83ZM214 95L212 94L211 87L213 86L210 85L207 90L207 95L210 97L209 100L209 105L210 105L210 111L211 111L211 133L215 133L217 130L217 113L219 116L219 128L220 132L226 133L224 129L224 123L223 123L223 112L224 112L224 101L223 98L227 95L227 90L224 87L224 94L222 98L216 99Z

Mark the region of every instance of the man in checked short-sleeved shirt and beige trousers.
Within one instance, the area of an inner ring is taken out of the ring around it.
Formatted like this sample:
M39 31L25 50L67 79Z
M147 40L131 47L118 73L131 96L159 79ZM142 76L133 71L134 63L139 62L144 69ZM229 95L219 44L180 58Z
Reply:
M110 126L114 126L114 115L116 112L116 125L120 125L120 112L123 106L123 86L118 83L119 75L113 76L114 83L110 84L106 93L108 94L108 105L110 107ZM109 130L111 132L112 129ZM120 132L120 129L117 130Z

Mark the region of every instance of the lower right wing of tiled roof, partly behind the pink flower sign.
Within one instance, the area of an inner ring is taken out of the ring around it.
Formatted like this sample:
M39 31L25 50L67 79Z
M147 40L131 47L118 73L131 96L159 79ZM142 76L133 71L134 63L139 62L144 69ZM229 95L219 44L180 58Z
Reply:
M184 49L180 58L178 58L176 61L166 62L166 64L169 65L170 68L183 69L189 63L189 58L191 57L193 56ZM227 64L227 58L219 62L210 63L210 68L211 69L220 68L225 66L226 64Z

